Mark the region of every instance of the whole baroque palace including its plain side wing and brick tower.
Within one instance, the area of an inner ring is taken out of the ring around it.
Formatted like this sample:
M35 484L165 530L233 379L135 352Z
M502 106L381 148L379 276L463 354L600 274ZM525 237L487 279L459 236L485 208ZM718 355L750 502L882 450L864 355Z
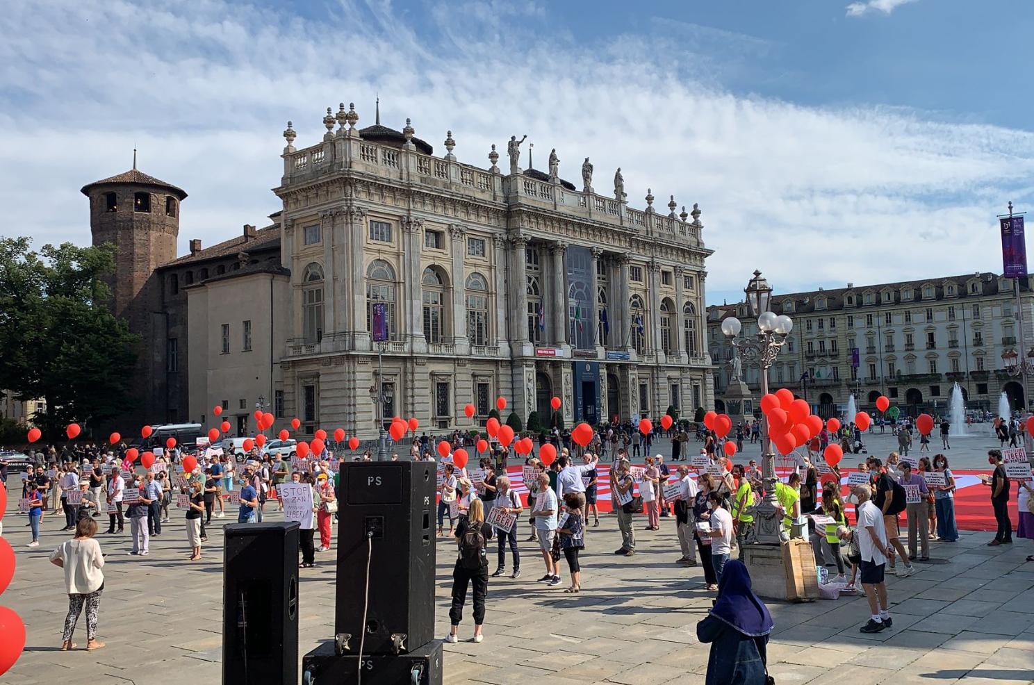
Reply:
M432 429L474 427L498 396L504 417L543 426L553 396L568 427L711 406L696 205L664 212L647 192L633 209L620 169L600 193L587 157L580 189L555 151L548 172L521 168L517 136L508 168L495 146L485 168L458 161L451 131L434 156L408 120L374 120L328 108L304 148L288 122L272 223L179 258L184 191L135 164L84 188L94 241L120 248L115 307L148 341L151 421L210 423L220 405L246 434L261 405L277 428L371 437L378 399L387 421Z

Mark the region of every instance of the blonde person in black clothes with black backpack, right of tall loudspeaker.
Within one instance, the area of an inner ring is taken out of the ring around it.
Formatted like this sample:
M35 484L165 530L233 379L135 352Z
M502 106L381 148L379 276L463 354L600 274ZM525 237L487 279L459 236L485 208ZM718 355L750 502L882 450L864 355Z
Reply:
M470 500L466 517L456 526L459 540L459 557L453 568L453 602L449 610L452 630L446 642L459 642L459 622L463 618L463 603L466 589L474 583L474 637L470 642L482 641L481 625L485 622L485 597L488 596L488 557L485 542L492 538L492 527L485 523L485 508L480 499Z

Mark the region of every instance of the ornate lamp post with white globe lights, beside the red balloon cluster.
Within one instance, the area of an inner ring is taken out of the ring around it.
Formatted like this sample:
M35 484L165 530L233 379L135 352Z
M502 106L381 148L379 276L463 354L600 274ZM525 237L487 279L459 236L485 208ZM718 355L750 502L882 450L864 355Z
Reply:
M761 394L764 396L768 394L768 369L776 361L780 348L786 344L786 337L793 330L793 320L786 314L777 315L770 311L772 288L760 271L754 272L754 278L747 284L743 292L747 293L751 313L758 317L758 333L750 338L737 339L742 323L735 316L722 321L722 333L729 338L729 343L744 361L758 364L761 369ZM768 417L764 413L761 414L761 475L765 498L755 509L753 541L758 544L779 544L781 526L776 498L776 455L768 435Z

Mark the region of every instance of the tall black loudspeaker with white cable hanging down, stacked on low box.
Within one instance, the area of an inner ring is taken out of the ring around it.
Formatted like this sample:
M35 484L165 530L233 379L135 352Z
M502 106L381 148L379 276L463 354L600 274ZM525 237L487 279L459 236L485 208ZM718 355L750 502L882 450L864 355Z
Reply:
M339 655L358 655L361 640L365 658L416 651L433 639L435 476L433 462L341 464L334 615Z

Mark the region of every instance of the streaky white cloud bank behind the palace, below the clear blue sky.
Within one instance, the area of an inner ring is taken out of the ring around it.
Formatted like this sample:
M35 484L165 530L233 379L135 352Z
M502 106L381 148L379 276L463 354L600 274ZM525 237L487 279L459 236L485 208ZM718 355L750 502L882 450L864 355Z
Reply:
M221 0L16 3L0 27L0 233L88 243L79 188L128 168L135 144L143 170L190 193L181 251L225 240L278 209L288 119L311 145L339 101L372 123L377 92L383 123L412 117L438 153L451 129L460 161L487 166L491 144L526 132L566 178L591 156L606 189L621 166L633 207L647 187L662 210L670 194L700 203L712 295L736 297L755 268L784 291L1000 269L995 214L1032 196L1027 131L736 96L713 51L679 37L580 44L548 10L448 7L417 26L387 3L321 21Z

